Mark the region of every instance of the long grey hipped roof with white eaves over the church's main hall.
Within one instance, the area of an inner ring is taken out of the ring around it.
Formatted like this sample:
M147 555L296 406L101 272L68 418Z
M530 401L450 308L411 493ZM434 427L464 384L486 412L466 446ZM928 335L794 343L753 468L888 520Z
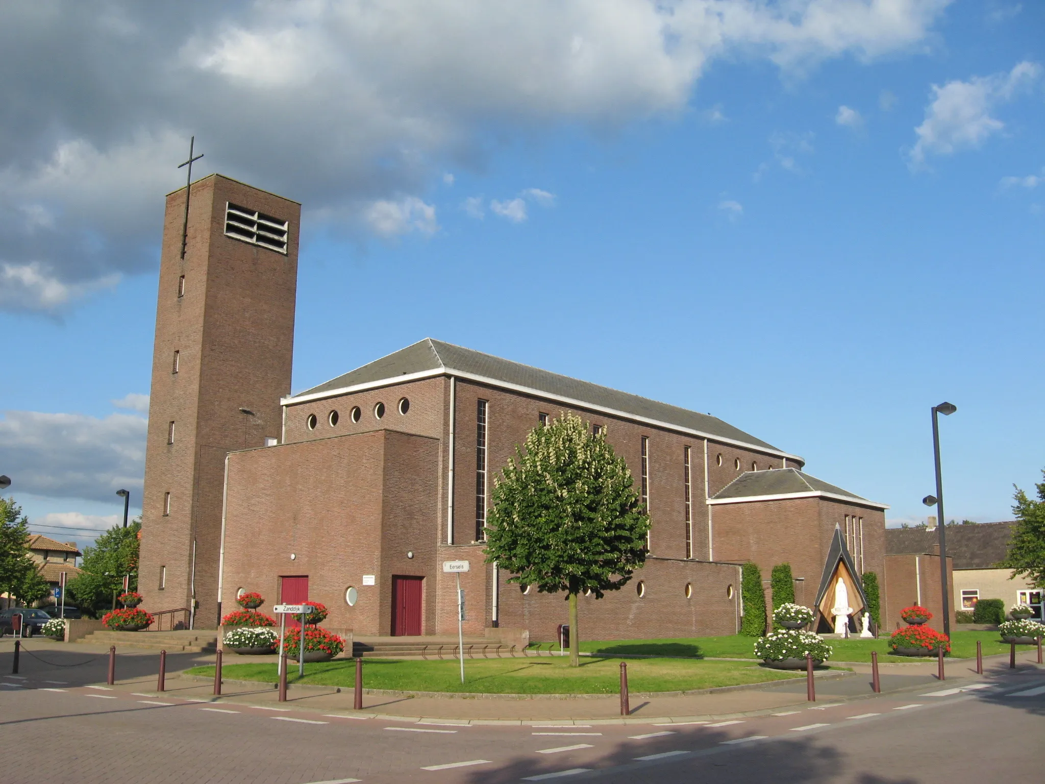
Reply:
M745 433L710 414L699 414L670 403L640 397L598 384L552 373L530 365L462 348L426 338L388 356L332 378L325 384L283 398L283 405L321 399L370 387L413 381L433 375L455 375L494 387L544 397L572 407L622 415L669 429L707 436L724 443L753 446L797 462L795 455Z

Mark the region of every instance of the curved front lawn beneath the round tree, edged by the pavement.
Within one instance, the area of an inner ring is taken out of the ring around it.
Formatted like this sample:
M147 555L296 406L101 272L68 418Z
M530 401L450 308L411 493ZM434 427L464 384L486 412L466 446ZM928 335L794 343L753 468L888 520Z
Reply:
M619 659L583 659L580 667L570 667L568 658L465 660L465 683L461 684L456 661L425 662L367 659L363 683L368 689L446 691L487 694L616 694L621 685ZM191 675L214 676L213 667L193 667ZM275 664L227 664L224 677L237 681L277 682ZM628 662L631 691L683 691L716 686L736 686L803 677L803 672L770 670L746 662L694 662L679 659L642 659ZM305 665L298 679L292 666L288 683L315 686L355 684L355 663L351 660Z

